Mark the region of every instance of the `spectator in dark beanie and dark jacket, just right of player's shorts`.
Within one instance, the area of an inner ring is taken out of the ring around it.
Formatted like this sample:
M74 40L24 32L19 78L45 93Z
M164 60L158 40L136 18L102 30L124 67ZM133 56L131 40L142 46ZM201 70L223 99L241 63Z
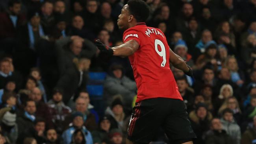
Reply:
M204 143L204 135L206 131L209 130L210 121L212 119L212 114L207 110L207 105L205 103L198 103L196 109L189 113L189 120L191 122L191 127L197 139L195 140L196 144Z

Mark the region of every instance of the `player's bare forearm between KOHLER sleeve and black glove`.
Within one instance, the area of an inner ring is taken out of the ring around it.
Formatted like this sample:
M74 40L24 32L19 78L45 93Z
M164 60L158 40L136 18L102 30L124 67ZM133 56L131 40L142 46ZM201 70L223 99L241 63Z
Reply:
M130 40L125 42L124 44L121 44L120 46L115 46L112 49L114 51L113 55L127 57L134 54L134 52L136 52L138 48L139 48L139 43L135 40Z

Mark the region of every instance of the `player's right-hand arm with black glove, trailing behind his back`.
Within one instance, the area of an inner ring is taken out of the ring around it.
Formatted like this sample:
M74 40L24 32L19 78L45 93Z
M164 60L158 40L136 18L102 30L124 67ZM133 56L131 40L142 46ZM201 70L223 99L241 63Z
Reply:
M186 75L193 76L192 69L189 65L187 65L186 61L184 61L179 55L175 54L171 48L170 51L170 62L173 64L175 68L182 70Z

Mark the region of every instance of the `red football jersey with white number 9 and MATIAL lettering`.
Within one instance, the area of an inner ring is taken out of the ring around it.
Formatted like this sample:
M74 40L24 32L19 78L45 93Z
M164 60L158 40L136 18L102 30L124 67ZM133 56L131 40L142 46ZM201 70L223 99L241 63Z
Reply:
M135 40L138 50L129 56L137 84L137 100L148 98L182 99L169 65L169 46L158 28L145 24L124 31L123 42Z

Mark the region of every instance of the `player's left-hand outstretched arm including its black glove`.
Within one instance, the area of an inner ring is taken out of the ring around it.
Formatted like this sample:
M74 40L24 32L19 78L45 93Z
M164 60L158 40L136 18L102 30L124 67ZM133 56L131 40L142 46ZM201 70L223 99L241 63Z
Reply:
M130 56L134 54L134 52L136 52L136 50L139 48L139 43L135 40L127 41L124 44L121 44L120 46L115 46L113 48L106 46L98 39L95 40L95 44L100 51L105 52L110 56L115 55L120 57Z

